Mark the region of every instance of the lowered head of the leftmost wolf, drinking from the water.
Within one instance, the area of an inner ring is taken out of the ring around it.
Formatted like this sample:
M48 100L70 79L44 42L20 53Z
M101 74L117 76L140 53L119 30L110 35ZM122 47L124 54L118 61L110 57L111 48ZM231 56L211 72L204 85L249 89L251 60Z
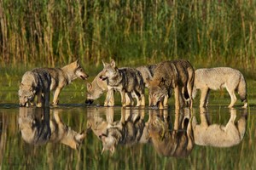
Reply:
M20 83L20 89L18 92L20 99L20 106L28 105L28 102L33 101L36 94L36 89L33 86Z

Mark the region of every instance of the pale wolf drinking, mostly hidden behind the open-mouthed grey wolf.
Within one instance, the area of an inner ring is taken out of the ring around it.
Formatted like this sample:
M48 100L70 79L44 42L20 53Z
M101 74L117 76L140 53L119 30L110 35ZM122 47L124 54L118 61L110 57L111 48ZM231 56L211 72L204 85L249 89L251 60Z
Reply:
M150 80L153 77L155 67L156 65L143 65L136 68L137 71L140 71L146 88L149 87L148 80ZM87 99L85 100L85 103L91 104L95 99L100 98L103 93L108 91L107 81L102 81L102 79L99 78L101 75L102 71L95 77L95 79L91 83L87 83ZM130 99L130 97L127 94L125 94L125 100L126 105L129 105L131 104L133 99ZM150 101L150 99L148 99L148 101ZM104 105L114 105L113 92L108 92L108 94L106 95Z

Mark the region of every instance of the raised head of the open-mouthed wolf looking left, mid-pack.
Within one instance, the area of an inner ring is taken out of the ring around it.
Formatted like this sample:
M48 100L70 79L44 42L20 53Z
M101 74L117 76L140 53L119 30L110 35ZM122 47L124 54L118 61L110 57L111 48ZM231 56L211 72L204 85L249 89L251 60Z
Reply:
M100 75L100 79L104 81L107 79L113 79L118 75L118 68L115 65L115 62L113 59L110 61L110 64L104 63L104 61L102 61L102 63L104 65L104 68Z

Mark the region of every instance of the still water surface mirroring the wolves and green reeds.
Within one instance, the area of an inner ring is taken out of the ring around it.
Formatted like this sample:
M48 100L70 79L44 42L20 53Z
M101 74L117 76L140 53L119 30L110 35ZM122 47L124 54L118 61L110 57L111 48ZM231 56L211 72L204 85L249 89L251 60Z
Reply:
M2 169L256 168L256 106L230 110L228 97L207 109L159 111L84 102L20 108L16 92L8 95L15 102L0 104Z

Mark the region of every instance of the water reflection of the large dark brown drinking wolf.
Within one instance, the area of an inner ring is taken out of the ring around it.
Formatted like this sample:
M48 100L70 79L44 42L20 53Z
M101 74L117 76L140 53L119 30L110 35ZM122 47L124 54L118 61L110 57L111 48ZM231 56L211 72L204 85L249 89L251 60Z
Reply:
M176 110L173 127L171 121L160 116L160 111L149 112L148 135L154 145L154 150L161 156L189 156L194 148L194 133L189 108ZM156 112L156 113L155 113Z

